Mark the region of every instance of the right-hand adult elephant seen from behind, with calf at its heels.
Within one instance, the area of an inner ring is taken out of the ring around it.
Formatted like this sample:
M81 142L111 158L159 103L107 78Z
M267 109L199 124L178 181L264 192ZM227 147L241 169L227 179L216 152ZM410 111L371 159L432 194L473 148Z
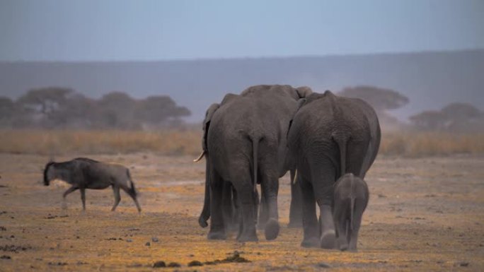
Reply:
M289 158L294 158L303 195L301 246L332 249L336 235L333 184L345 173L364 178L380 145L378 117L367 102L327 90L301 101L287 136Z

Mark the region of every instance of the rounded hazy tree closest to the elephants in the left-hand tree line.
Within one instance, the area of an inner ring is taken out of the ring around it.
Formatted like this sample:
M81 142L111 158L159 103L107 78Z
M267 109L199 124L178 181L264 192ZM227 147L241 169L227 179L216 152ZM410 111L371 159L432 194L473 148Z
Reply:
M190 116L186 107L177 106L171 97L155 95L146 97L137 103L135 119L149 124L163 124L173 119Z

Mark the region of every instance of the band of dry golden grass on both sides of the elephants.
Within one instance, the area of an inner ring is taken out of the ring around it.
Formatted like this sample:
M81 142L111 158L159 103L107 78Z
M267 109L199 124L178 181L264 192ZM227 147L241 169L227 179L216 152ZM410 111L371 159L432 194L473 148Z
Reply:
M0 130L1 153L57 155L155 152L197 155L202 131ZM484 153L484 134L391 132L382 137L381 155L408 157Z

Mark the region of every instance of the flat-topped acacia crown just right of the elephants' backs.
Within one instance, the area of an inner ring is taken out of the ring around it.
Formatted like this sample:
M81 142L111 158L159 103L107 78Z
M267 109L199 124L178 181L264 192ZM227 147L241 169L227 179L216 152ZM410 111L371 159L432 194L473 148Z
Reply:
M408 104L408 97L401 95L395 90L378 88L373 86L356 86L345 88L340 93L342 96L357 97L369 103L377 112L396 110Z

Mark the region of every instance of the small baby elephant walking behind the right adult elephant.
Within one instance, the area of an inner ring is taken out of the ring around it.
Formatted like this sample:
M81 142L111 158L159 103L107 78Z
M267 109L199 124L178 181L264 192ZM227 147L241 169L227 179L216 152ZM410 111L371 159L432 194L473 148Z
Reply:
M367 183L353 174L345 174L335 183L333 219L340 250L357 250L359 226L368 198Z

